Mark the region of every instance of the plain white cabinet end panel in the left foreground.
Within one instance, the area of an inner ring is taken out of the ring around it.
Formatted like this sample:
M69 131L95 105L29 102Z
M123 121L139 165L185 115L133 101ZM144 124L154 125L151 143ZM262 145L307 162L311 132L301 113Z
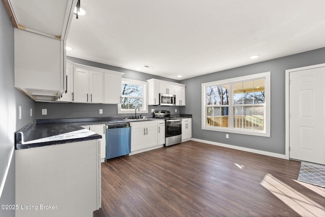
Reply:
M97 139L15 150L15 163L17 217L90 217L102 206Z

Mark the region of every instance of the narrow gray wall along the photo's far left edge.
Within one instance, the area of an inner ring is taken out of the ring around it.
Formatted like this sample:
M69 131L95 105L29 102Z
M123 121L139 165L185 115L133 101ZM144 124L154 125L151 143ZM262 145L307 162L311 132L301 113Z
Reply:
M0 4L0 204L15 204L15 154L11 150L15 132L32 121L30 108L35 103L14 87L14 28L4 5ZM18 106L22 108L22 119L18 118ZM6 176L6 169L8 175ZM0 216L15 216L14 210L0 209Z

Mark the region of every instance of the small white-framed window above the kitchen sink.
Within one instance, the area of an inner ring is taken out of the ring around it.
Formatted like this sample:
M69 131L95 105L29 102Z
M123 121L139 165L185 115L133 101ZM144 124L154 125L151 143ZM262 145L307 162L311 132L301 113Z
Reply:
M148 113L147 105L147 82L122 79L121 103L118 104L119 114Z

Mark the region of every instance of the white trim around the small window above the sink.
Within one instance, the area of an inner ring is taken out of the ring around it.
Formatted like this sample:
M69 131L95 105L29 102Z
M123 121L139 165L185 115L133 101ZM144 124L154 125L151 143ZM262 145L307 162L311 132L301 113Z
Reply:
M137 111L137 113L148 113L148 83L145 81L139 81L139 80L133 80L133 79L127 79L122 78L122 83L130 83L130 84L136 84L136 85L142 85L143 87L143 106L140 111ZM120 87L122 88L122 87ZM122 89L120 89L120 95L122 97ZM117 113L118 114L133 114L135 113L135 109L122 109L121 103L117 104Z

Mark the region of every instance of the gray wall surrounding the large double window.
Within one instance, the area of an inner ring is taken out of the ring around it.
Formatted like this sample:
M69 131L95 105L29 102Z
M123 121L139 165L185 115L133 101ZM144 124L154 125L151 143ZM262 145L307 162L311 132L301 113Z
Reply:
M186 84L186 106L181 108L181 113L193 115L193 138L285 154L285 70L322 63L325 63L325 48L182 80L181 83ZM201 129L202 83L269 71L271 71L270 138L228 133L229 139L226 139L224 132Z

